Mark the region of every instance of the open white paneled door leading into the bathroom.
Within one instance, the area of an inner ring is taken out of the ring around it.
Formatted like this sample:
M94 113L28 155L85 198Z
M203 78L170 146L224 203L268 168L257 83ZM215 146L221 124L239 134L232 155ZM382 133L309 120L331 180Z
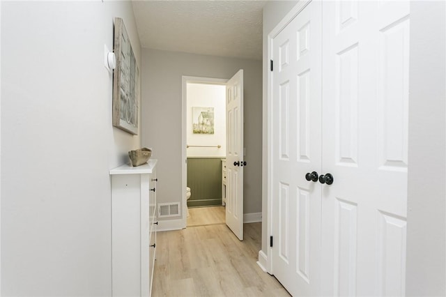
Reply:
M226 83L226 224L243 241L243 70Z

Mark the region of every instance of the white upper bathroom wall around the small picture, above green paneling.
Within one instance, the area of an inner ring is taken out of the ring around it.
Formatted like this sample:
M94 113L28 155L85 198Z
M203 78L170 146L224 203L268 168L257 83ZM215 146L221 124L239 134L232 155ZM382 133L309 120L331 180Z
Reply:
M186 134L187 157L222 157L226 156L226 86L215 84L187 84L186 105ZM192 115L194 107L213 107L214 133L198 134L192 129L193 123L197 123ZM193 147L193 146L217 146Z

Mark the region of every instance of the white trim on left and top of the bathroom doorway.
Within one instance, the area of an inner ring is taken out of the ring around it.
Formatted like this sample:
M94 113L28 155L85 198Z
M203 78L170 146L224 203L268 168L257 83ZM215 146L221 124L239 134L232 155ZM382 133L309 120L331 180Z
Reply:
M183 229L187 225L187 199L186 199L186 187L187 187L187 132L186 132L186 124L187 124L187 83L199 83L199 84L221 84L226 85L229 79L222 78L212 78L212 77L195 77L195 76L186 76L183 75L181 77L181 195L182 195L182 207L181 213L183 218L182 227Z

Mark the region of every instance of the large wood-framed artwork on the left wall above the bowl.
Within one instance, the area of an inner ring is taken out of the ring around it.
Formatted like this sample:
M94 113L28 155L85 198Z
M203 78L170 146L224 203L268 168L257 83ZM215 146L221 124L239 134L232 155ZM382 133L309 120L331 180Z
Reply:
M139 69L132 45L120 17L114 19L113 125L138 135Z

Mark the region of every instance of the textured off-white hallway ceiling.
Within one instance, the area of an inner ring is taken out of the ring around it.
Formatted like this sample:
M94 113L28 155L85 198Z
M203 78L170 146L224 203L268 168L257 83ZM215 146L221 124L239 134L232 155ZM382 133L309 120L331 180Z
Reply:
M266 1L132 3L142 47L262 58L262 10Z

